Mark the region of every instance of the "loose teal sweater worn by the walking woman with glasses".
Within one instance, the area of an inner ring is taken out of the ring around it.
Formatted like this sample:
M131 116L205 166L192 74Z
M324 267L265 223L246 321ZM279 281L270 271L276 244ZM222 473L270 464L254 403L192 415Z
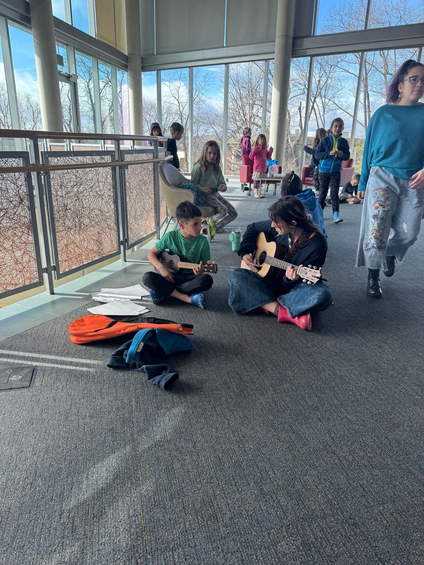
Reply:
M366 129L358 190L366 189L371 167L384 167L397 179L410 179L424 167L424 104L375 110Z

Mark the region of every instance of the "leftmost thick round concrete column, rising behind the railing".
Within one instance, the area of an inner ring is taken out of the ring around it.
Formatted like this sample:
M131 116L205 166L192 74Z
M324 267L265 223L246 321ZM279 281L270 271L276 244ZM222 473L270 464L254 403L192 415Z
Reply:
M43 129L63 132L51 0L31 0L30 5Z

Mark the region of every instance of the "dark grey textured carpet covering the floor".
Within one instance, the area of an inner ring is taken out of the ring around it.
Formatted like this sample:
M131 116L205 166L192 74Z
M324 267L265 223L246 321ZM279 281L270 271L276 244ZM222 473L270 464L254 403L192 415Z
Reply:
M243 228L275 201L229 197ZM85 307L1 342L38 374L0 394L0 564L423 563L423 242L367 298L360 214L326 207L312 332L232 314L218 235L209 309L150 306L194 324L172 392L105 366L122 339L72 344Z

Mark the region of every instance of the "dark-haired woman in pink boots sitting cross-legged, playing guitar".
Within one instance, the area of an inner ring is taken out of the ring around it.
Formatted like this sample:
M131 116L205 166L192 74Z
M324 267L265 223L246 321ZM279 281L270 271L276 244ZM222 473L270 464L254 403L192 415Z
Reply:
M294 196L280 198L268 208L270 220L250 224L237 252L248 267L236 269L228 277L228 303L236 314L260 308L275 314L280 322L292 322L302 329L311 329L310 312L326 310L332 303L331 290L325 284L307 284L294 266L322 267L327 254L327 241L318 226L306 215L302 202ZM276 280L262 278L251 253L256 250L259 233L268 241L284 245L284 261L290 263Z

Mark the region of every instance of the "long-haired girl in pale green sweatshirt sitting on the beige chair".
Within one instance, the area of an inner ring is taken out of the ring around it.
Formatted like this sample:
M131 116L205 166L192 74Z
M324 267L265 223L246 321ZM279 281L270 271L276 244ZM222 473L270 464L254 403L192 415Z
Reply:
M221 151L216 141L207 141L200 158L194 163L192 185L202 198L202 203L215 208L216 213L208 218L210 234L224 231L224 227L237 218L235 207L222 197L227 185L222 174Z

